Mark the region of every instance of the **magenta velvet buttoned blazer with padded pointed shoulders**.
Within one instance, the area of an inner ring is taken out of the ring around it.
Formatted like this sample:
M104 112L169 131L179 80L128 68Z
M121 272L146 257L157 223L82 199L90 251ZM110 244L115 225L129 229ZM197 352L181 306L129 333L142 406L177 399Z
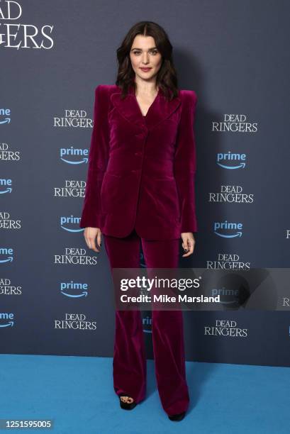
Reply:
M123 238L180 238L196 232L194 174L196 93L179 90L167 101L159 90L146 116L133 87L95 89L87 184L80 228Z

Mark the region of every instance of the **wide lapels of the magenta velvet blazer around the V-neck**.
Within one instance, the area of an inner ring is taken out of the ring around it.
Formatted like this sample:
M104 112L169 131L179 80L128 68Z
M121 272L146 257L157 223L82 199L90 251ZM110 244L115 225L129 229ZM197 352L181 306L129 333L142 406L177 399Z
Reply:
M133 87L129 88L128 94L123 100L121 99L121 89L118 89L118 91L111 94L111 102L119 113L130 123L140 128L148 128L151 130L157 126L158 123L169 118L179 104L181 104L181 99L177 96L172 99L172 101L167 101L159 90L146 116L143 116L140 110Z

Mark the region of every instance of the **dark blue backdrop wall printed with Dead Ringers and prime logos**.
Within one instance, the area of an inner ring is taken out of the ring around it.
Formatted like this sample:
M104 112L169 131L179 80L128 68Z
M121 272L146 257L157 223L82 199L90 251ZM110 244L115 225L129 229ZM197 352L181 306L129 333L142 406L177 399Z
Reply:
M260 292L259 308L234 279L251 270L258 287L262 269L289 267L289 11L262 0L0 1L2 353L113 355L108 257L104 243L87 247L79 221L94 89L114 84L116 49L148 20L169 35L179 88L198 96L199 232L191 257L180 244L179 267L233 270L218 308L184 311L186 360L289 366L286 286Z

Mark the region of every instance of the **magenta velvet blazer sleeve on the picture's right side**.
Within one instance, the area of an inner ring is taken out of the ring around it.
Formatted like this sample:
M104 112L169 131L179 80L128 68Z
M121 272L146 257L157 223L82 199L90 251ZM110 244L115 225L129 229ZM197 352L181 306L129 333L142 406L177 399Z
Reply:
M194 119L197 96L185 91L174 153L174 177L177 182L181 210L181 232L197 232L194 177L196 172L196 140Z

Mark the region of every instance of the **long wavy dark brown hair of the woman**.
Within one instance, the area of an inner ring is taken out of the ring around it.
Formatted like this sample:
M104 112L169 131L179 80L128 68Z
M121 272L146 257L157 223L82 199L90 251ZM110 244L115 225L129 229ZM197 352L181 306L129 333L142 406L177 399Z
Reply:
M178 95L178 87L177 72L172 59L172 45L164 28L152 21L140 21L134 24L116 50L119 66L115 84L121 88L121 98L125 98L130 86L133 86L136 91L135 72L130 61L130 50L136 35L154 38L155 45L162 55L162 65L157 72L156 84L167 99L175 98Z

